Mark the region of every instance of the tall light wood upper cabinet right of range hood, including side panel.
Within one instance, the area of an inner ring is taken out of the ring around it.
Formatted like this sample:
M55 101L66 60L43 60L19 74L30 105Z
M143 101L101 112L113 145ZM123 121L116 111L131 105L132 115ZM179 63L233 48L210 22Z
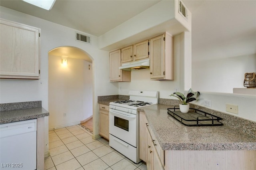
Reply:
M173 38L170 34L157 36L150 42L150 79L173 80L174 56Z

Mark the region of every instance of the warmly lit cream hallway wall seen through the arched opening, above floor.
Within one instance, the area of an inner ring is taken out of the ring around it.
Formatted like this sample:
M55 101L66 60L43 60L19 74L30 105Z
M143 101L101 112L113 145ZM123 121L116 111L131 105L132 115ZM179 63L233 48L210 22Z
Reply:
M92 59L84 50L71 46L52 49L48 74L49 129L76 125L92 117Z

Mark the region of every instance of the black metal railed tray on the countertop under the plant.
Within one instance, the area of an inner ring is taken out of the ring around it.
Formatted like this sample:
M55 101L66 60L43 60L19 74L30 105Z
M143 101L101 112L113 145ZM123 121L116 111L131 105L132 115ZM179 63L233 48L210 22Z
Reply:
M210 113L190 108L188 113L181 113L178 106L169 108L168 114L174 117L177 121L186 126L222 126L219 121L222 118L214 116Z

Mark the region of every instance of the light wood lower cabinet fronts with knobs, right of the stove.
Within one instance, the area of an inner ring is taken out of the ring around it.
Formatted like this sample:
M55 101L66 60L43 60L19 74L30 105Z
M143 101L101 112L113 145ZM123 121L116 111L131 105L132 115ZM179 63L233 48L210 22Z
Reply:
M164 150L160 148L152 132L145 113L139 113L140 119L140 159L147 163L148 170L164 170ZM154 139L153 139L154 138ZM158 150L160 155L158 154Z

